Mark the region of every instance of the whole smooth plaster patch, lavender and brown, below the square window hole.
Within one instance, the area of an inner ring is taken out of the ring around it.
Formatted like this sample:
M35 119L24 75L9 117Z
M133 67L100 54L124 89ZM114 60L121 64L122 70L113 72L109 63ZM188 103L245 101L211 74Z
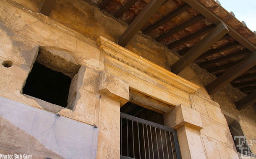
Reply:
M34 158L94 159L99 129L0 97L0 152Z

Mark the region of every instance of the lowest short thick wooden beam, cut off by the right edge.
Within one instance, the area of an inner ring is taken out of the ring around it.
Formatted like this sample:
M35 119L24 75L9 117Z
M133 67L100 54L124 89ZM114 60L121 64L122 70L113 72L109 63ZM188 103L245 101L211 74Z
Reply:
M236 109L240 111L253 103L256 103L256 92L253 92L248 96L246 96L245 98L235 102L235 106L236 106Z

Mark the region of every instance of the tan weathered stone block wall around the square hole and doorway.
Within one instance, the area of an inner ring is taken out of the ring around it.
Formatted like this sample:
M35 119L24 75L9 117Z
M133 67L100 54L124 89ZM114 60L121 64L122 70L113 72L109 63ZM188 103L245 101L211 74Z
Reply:
M111 116L113 119L110 119L109 124L108 120L104 119L113 114L118 115L119 107L116 101L107 97L102 99L97 94L103 59L95 40L101 35L116 42L126 25L103 14L97 7L84 0L57 1L49 18L37 13L40 5L42 0L0 0L0 63L5 60L13 61L10 68L0 66L0 96L43 109L37 101L24 96L21 93L22 88L38 47L60 48L59 51L68 53L76 63L86 66L86 71L83 85L79 89L81 98L77 101L76 109L61 109L59 114L99 126L98 148L107 150L98 151L98 158L115 158L119 155L119 150L114 148L119 143L106 143L105 140L114 137L108 134L110 132L119 134L119 116L118 119ZM166 69L178 60L175 53L140 34L137 34L126 48ZM204 85L209 83L212 77L205 76L204 70L201 71L196 66L192 65L191 68L185 68L179 75L201 86L197 93L191 96L191 101L192 108L199 111L202 117L204 129L201 130L201 141L207 158L227 159L228 156L235 159L238 156L233 149L232 137L220 108L231 114L255 120L255 115L250 115L253 109L250 107L240 112L236 111L233 101L242 95L238 93L236 98L230 97L233 93L230 90L227 90L228 93L222 90L209 96ZM211 97L220 104L220 107ZM251 123L246 123L247 127L243 128L244 132L250 132L248 127L253 124L251 119L248 119ZM245 122L241 119L240 123ZM101 129L101 126L107 131ZM246 135L255 138L250 134ZM12 146L16 147L13 143Z

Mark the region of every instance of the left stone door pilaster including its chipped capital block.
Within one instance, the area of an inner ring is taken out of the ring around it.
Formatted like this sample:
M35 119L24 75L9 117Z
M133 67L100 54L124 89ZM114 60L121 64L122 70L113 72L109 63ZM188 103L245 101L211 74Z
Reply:
M129 101L129 85L103 72L99 81L97 159L120 158L120 106Z

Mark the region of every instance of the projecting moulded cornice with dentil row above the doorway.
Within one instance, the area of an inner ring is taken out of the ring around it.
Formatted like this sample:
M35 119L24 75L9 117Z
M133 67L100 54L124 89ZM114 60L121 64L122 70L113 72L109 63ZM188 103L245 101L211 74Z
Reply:
M152 78L155 82L165 83L167 86L167 88L165 88L166 90L168 90L168 88L172 90L175 88L177 91L191 94L199 89L199 86L196 84L181 78L171 71L123 48L107 38L100 36L97 40L97 45L103 50L105 56L111 57L112 60L119 61L119 63L123 63L130 67L130 69L135 68L140 71L141 74L146 74L148 78ZM115 67L118 66L115 64Z

